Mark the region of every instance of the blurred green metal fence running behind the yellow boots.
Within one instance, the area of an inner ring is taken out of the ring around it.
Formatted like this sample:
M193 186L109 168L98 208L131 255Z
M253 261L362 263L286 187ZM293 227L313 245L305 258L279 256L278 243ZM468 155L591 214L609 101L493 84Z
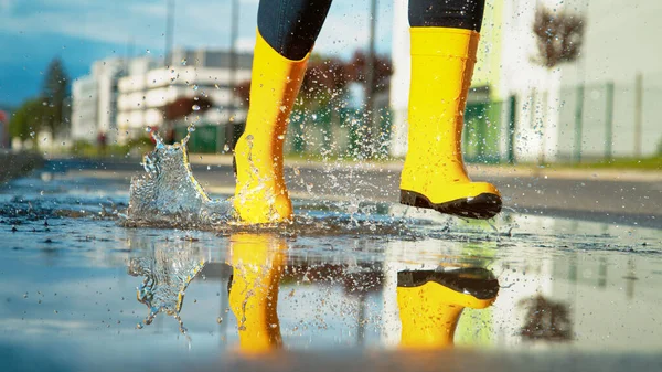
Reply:
M532 89L503 102L469 103L462 136L465 160L544 163L661 155L661 102L662 78L647 81L640 75L631 83ZM377 158L387 157L392 113L383 107L373 120L373 127L366 127L361 109L295 111L285 152L356 158L364 142L371 141ZM189 142L191 150L217 151L216 128L197 126ZM179 128L178 137L183 135L185 128Z

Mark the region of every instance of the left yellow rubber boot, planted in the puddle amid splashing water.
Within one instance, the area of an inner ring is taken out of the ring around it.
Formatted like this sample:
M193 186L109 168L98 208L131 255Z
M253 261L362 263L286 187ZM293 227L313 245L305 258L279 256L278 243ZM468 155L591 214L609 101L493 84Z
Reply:
M235 147L237 184L234 206L248 224L292 219L292 204L282 178L282 142L309 54L291 61L257 32L253 56L250 106L246 129Z

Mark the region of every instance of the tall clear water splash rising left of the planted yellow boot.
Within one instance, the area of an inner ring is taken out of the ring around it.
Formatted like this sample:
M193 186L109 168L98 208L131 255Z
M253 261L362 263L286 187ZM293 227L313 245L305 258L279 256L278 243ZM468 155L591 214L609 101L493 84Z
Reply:
M193 177L186 142L194 131L189 126L181 141L167 145L147 129L156 148L143 157L145 174L131 179L127 222L137 225L209 227L227 222L233 216L228 200L212 200Z

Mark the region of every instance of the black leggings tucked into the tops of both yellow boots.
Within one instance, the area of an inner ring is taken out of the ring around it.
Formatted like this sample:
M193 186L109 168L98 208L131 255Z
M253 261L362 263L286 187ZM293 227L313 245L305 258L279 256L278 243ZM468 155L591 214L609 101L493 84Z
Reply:
M260 0L257 28L278 53L301 60L312 49L331 0ZM480 32L485 0L409 0L409 25Z

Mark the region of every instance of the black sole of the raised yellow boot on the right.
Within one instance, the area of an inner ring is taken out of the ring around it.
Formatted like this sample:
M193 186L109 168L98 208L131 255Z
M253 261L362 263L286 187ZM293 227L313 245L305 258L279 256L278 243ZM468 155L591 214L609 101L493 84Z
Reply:
M401 204L426 208L459 217L488 220L501 212L501 198L491 193L482 193L476 198L463 198L436 204L427 196L415 191L401 190Z

